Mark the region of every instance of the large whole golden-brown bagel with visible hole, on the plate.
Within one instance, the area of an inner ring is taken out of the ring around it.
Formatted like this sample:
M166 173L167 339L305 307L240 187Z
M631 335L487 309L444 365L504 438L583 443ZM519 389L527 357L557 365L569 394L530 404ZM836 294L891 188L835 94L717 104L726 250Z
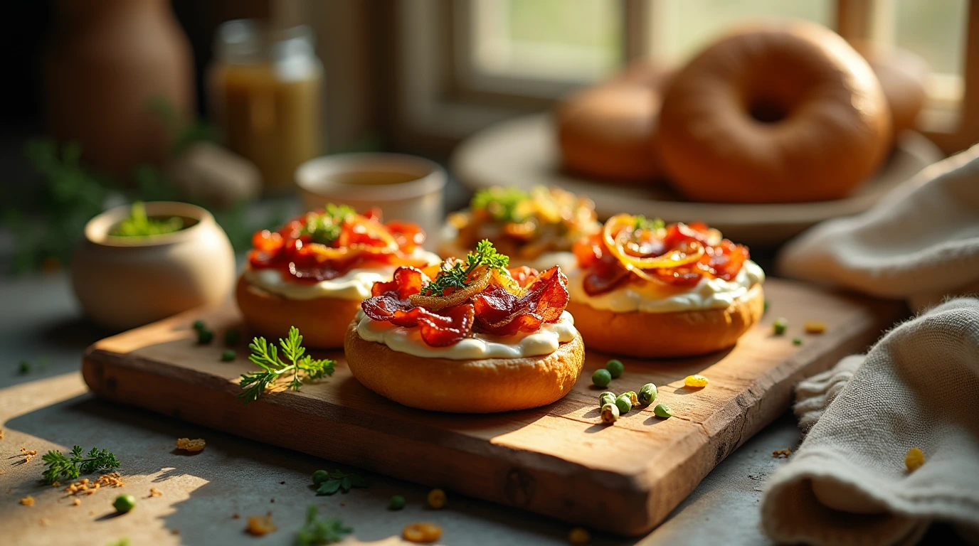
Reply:
M815 23L727 34L680 70L657 148L676 190L717 203L844 197L880 165L890 112L873 71Z

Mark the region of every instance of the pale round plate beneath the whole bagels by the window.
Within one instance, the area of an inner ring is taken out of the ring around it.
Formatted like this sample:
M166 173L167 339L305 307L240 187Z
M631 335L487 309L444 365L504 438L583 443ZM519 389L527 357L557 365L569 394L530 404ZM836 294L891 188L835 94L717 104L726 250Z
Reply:
M452 155L452 171L472 190L489 186L560 186L590 197L602 218L629 212L667 222L707 222L724 236L759 247L782 243L806 228L836 216L855 214L925 166L942 159L924 136L905 132L880 171L850 197L827 202L726 205L680 200L661 184L648 187L580 178L561 170L561 159L549 114L534 114L497 123L462 142Z

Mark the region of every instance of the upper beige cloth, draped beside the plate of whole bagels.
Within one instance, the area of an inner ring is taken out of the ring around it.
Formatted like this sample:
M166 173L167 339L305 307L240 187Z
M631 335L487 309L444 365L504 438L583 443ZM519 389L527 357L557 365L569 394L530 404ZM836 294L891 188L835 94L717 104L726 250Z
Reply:
M789 243L777 269L914 309L979 294L979 145L939 161L857 216Z

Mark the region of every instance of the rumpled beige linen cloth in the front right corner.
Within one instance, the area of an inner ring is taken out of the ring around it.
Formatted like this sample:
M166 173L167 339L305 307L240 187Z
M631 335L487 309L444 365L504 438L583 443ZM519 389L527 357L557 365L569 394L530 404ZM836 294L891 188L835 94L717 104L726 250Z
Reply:
M812 429L769 479L762 526L818 545L912 544L929 523L979 537L979 299L895 328L797 389ZM924 465L909 473L909 448Z

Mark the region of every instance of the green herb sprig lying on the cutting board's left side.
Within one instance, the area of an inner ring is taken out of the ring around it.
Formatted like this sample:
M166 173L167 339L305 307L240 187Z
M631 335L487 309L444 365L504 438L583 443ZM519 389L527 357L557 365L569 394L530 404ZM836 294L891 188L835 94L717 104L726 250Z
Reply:
M282 347L282 354L289 359L291 364L286 364L279 358L278 349L274 344L265 341L264 338L256 338L249 344L252 354L248 359L254 362L263 371L242 374L242 379L238 385L244 391L238 395L246 404L257 400L258 396L265 391L269 385L286 374L292 373L293 379L289 382L289 388L299 390L303 386L303 381L321 379L323 376L332 376L334 366L337 361L324 358L317 360L305 354L303 347L303 336L295 326L289 329L289 339L279 340ZM302 374L302 376L301 376Z

